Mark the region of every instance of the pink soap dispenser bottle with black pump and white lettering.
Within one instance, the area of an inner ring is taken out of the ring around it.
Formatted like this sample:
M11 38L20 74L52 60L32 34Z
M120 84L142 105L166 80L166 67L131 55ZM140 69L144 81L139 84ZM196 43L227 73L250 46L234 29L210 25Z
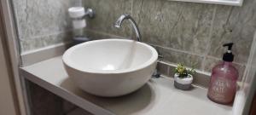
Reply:
M238 72L232 65L234 55L231 52L233 43L225 43L223 46L228 47L224 54L223 60L212 69L211 82L207 96L210 100L221 103L231 104L236 95L236 81Z

